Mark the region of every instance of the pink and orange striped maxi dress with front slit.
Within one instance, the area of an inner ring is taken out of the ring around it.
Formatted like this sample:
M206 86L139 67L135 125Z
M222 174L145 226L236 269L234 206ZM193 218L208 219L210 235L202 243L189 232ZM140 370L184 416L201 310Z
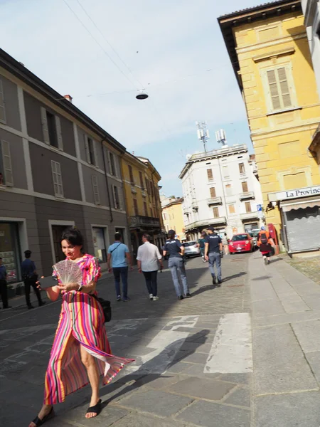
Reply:
M77 263L84 284L100 278L100 267L92 255L83 255ZM80 345L96 358L103 384L108 384L125 364L134 362L134 359L111 354L102 307L95 298L72 290L62 291L62 299L46 371L44 404L47 405L63 402L65 396L89 384L87 369L81 362Z

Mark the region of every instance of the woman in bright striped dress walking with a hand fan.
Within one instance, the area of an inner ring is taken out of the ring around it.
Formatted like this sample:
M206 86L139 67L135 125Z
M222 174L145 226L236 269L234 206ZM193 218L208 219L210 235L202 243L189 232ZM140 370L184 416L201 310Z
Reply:
M101 411L99 379L108 384L124 364L133 359L111 354L105 331L102 307L90 296L100 277L100 267L92 255L82 253L83 238L77 229L65 231L61 247L68 260L82 270L82 285L61 283L46 288L52 301L62 295L62 309L55 332L55 339L46 371L43 407L29 427L41 426L53 416L53 405L63 402L65 396L90 383L92 395L86 418L97 416Z

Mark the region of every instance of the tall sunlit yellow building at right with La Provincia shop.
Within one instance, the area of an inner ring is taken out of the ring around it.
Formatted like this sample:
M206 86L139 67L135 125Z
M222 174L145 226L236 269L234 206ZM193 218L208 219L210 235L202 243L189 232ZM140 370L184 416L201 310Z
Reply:
M320 174L308 147L320 105L300 1L218 22L245 101L267 224L290 254L319 251Z

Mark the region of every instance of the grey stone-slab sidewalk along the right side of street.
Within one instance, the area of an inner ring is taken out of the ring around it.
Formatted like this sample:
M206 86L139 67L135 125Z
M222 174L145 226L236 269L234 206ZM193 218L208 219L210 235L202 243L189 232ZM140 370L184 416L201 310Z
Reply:
M320 286L274 258L249 260L255 427L320 426Z

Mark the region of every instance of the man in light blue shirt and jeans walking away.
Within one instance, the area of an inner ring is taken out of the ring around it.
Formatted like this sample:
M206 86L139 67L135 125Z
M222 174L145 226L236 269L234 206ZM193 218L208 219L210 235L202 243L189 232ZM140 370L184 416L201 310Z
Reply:
M128 264L132 270L132 262L129 248L127 245L122 243L122 236L120 233L114 234L114 243L112 243L112 245L110 245L108 248L107 264L109 273L113 271L114 286L117 292L117 301L121 301L120 277L122 280L122 301L129 301Z

